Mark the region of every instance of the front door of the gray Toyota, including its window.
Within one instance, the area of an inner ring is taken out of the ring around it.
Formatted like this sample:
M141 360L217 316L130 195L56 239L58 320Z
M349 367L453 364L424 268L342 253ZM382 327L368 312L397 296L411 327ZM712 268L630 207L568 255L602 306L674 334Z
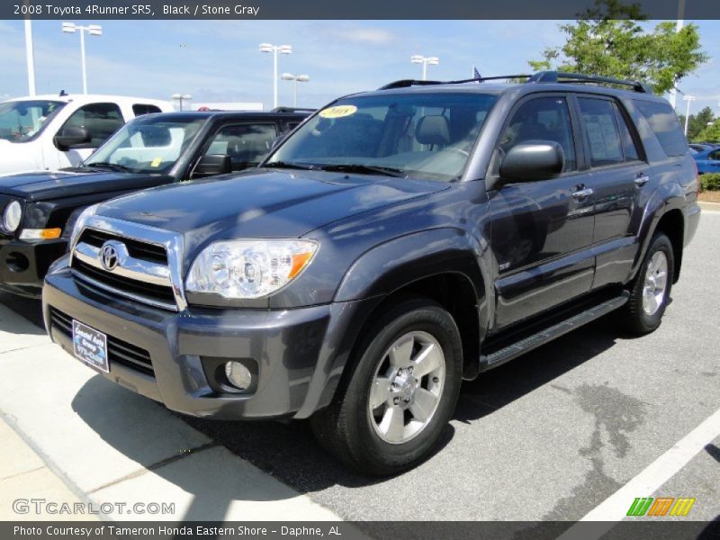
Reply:
M579 127L571 110L565 94L532 95L510 113L500 135L500 156L520 143L552 141L563 147L565 166L560 177L489 193L496 331L590 291L593 195L578 165Z

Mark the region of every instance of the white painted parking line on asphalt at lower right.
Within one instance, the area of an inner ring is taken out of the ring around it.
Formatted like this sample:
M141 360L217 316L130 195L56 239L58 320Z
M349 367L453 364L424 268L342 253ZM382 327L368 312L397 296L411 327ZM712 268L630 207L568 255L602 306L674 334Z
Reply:
M581 521L607 521L608 527L602 532L598 530L600 536L605 534L613 527L614 522L626 517L627 509L636 497L652 495L718 436L720 436L720 410L716 410L665 454L645 467L643 472L637 474L630 482L626 482L595 509L590 510ZM574 534L574 528L568 529L560 538L570 538Z

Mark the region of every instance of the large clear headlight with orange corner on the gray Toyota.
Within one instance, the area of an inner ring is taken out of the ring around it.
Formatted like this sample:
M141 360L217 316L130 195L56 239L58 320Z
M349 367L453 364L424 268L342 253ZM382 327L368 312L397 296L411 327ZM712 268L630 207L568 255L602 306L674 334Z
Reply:
M317 249L311 240L215 242L195 259L185 290L236 300L267 296L297 277Z

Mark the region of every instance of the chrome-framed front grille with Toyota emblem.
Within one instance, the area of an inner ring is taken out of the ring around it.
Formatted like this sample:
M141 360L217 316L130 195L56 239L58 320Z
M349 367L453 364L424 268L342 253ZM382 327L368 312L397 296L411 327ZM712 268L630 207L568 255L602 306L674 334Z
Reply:
M93 216L84 225L70 258L78 279L158 308L184 310L182 237L102 216ZM106 247L112 247L115 257L103 257Z

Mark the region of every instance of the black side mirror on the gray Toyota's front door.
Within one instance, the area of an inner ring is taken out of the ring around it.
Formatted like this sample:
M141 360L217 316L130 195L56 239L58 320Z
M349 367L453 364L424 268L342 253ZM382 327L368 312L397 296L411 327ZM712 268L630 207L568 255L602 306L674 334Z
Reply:
M565 154L558 143L549 140L527 141L510 148L503 158L500 183L554 178L563 173L564 166Z

